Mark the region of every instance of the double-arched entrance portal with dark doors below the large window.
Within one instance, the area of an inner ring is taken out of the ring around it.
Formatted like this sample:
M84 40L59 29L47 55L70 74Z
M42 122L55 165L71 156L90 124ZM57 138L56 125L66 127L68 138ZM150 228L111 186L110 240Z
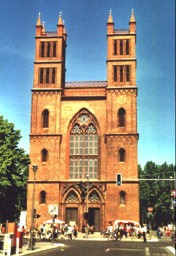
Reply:
M84 219L84 213L87 212L87 191L83 191L84 184L81 183L81 186L65 185L66 189L59 205L59 218L68 224L76 223L79 232L82 231L82 225L87 224L87 220ZM95 232L100 232L104 226L104 196L99 187L102 188L102 185L94 186L92 184L89 189L88 223L90 227L94 225Z

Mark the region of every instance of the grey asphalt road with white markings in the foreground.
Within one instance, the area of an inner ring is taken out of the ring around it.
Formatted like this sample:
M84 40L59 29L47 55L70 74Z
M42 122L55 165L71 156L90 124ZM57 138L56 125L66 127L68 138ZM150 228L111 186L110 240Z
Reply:
M59 243L59 242L58 242ZM64 240L65 246L34 253L34 256L171 256L170 242L120 242Z

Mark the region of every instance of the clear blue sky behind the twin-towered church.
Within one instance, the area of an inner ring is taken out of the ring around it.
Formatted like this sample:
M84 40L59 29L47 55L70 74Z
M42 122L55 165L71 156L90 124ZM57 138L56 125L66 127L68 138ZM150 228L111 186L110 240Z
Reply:
M29 153L35 25L56 31L59 12L67 37L66 81L107 80L107 26L136 20L138 163L175 163L175 1L174 0L6 0L1 1L0 114L21 130Z

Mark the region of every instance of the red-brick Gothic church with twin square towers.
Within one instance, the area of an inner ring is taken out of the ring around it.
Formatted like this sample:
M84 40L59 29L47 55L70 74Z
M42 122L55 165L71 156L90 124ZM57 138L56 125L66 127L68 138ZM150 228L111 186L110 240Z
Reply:
M97 232L109 221L139 222L139 182L130 180L138 178L135 25L132 10L130 27L114 29L110 11L107 81L66 82L67 34L61 13L56 32L45 32L39 14L31 90L28 227L34 164L34 208L41 215L36 223L51 219L49 205L57 205L57 218L75 221L81 231L87 223L87 202L88 221ZM121 186L116 184L117 173L122 174Z

